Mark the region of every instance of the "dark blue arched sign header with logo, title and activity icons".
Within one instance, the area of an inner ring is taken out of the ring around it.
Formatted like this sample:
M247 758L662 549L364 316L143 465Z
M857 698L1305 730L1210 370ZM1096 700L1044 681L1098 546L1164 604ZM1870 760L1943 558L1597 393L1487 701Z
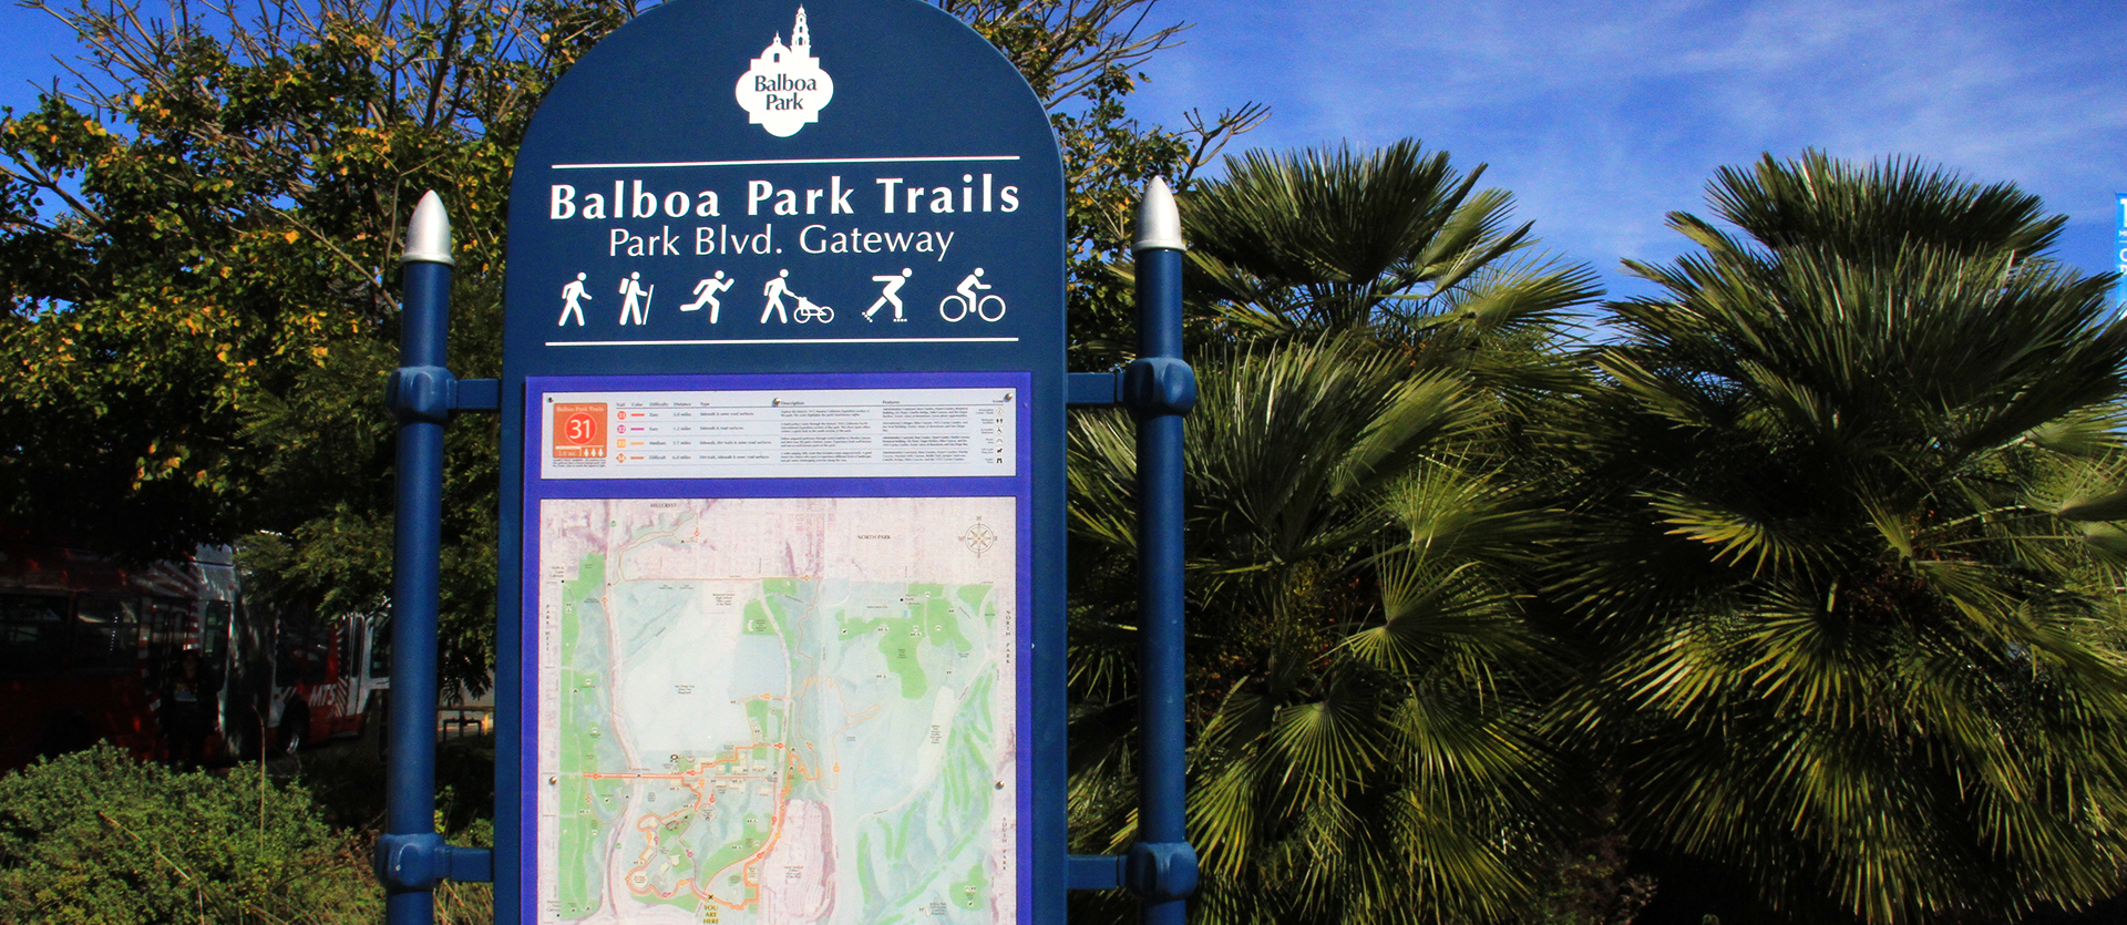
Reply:
M519 149L506 368L1059 372L1061 176L1025 79L936 6L657 6Z

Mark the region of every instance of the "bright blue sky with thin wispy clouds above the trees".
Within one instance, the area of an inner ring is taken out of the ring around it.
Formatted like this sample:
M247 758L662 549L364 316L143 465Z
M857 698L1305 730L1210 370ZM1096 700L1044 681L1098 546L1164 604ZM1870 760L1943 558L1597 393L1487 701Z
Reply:
M1970 0L1161 0L1191 21L1146 64L1134 111L1270 104L1238 147L1423 138L1491 164L1544 245L1593 264L1665 259L1674 208L1716 166L1821 147L1919 155L2016 181L2072 225L2059 257L2112 270L2127 189L2127 4ZM47 15L0 6L0 104L70 55ZM1238 149L1236 147L1236 149Z

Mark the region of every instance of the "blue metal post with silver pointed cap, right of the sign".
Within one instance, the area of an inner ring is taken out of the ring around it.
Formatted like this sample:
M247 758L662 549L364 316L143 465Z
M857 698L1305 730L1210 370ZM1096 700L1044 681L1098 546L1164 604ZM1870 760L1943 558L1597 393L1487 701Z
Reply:
M1183 727L1183 415L1195 374L1183 361L1183 240L1174 198L1159 179L1138 211L1138 359L1123 398L1138 419L1138 844L1127 859L1144 925L1183 925L1195 889L1187 831Z

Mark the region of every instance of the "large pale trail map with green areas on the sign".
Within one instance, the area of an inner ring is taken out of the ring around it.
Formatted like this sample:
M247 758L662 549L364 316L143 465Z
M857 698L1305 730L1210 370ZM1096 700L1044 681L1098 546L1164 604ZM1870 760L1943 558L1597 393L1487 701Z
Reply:
M540 921L1015 921L1017 498L538 504Z

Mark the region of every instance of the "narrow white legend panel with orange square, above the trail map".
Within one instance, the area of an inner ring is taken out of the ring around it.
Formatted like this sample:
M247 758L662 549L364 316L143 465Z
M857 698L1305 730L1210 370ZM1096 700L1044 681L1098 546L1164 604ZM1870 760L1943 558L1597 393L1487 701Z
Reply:
M542 478L1019 474L1019 389L557 391Z

